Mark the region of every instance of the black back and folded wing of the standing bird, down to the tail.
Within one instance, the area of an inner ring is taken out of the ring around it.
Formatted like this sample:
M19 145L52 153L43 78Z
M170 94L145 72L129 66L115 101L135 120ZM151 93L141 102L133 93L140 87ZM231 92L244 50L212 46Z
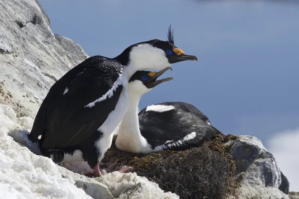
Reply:
M122 74L123 66L101 56L90 57L71 69L50 89L33 123L29 139L44 137L42 148L67 147L90 137L115 109L123 86L103 97Z

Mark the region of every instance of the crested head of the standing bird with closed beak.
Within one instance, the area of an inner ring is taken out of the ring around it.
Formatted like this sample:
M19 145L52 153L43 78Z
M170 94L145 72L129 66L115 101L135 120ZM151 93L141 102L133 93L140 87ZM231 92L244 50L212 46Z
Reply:
M168 29L167 41L153 39L133 44L115 59L123 65L133 65L137 71L160 70L181 61L197 61L196 56L186 55L174 45L171 26Z

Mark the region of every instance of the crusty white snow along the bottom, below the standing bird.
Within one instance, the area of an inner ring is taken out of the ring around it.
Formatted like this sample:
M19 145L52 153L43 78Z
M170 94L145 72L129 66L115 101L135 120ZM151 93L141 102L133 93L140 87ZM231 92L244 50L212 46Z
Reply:
M73 176L63 178L60 166L36 155L40 153L37 144L26 136L32 124L32 118L17 117L13 109L0 104L0 199L92 199L88 196L94 197L92 183L86 183L85 193L74 185L78 174L70 172ZM84 179L82 176L80 181ZM95 180L118 199L179 199L136 173L113 172Z

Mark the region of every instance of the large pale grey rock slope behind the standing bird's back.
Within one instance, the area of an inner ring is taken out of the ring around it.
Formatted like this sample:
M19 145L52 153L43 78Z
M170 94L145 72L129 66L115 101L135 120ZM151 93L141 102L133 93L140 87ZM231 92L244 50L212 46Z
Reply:
M0 10L0 103L34 118L55 81L88 55L53 34L37 0L1 0Z

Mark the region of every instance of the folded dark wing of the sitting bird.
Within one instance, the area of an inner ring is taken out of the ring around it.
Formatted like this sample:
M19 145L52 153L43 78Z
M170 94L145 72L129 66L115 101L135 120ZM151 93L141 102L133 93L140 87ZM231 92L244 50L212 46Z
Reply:
M164 112L144 109L139 113L139 119L141 134L151 146L184 145L185 141L197 140L198 129L204 133L210 129L210 125L197 115L176 109Z

